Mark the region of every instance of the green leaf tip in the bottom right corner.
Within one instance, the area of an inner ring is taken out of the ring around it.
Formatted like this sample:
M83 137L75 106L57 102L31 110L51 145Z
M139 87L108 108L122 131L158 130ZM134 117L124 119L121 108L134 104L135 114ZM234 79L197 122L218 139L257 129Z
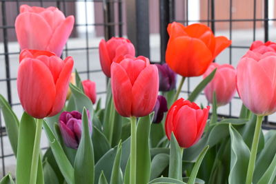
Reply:
M273 161L269 165L268 169L262 176L262 178L259 180L257 184L271 184L273 183L276 176L276 154L273 158Z

